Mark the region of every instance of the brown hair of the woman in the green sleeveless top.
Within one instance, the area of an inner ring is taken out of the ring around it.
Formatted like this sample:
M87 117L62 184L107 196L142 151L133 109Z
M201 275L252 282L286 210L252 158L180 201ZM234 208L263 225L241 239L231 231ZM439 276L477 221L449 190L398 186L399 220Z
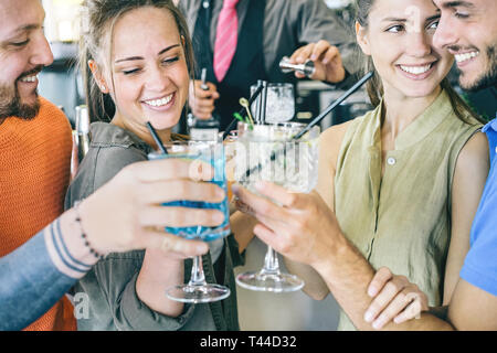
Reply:
M368 28L368 18L369 13L371 12L371 8L374 6L374 1L376 0L356 0L356 21L364 29ZM364 60L364 73L370 71L373 71L374 75L367 83L366 89L368 92L371 104L376 107L380 104L381 97L383 96L383 85L381 83L380 76L378 75L378 72L374 68L371 56L368 56ZM473 111L473 109L463 100L463 98L461 98L457 92L455 92L455 89L452 87L447 77L445 77L440 85L447 93L452 108L459 120L473 125L474 122L468 119L469 115L472 118L482 124L486 122L480 116Z

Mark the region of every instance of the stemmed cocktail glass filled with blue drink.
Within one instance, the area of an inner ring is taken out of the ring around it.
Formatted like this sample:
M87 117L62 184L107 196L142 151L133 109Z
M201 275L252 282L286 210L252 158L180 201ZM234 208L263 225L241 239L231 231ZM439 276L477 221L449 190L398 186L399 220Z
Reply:
M188 161L201 161L209 163L214 169L214 178L211 182L226 191L226 178L224 172L225 160L222 143L181 141L166 143L165 148L167 149L168 154L152 152L148 156L148 158L150 160L179 158ZM170 207L213 208L219 210L224 214L224 222L220 226L168 226L166 227L166 232L170 234L175 234L186 239L212 242L228 236L231 232L228 197L225 197L221 203L178 200L166 202L162 205ZM230 289L215 284L207 284L203 272L202 257L195 256L193 258L190 281L187 285L167 288L166 296L171 300L188 303L212 302L228 298L230 296Z

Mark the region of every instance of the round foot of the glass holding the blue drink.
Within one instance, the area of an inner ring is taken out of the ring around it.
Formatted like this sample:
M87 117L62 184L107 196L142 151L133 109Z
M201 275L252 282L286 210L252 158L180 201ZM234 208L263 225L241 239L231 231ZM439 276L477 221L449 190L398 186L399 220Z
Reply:
M230 297L230 289L219 285L181 285L168 288L166 296L188 303L213 302Z

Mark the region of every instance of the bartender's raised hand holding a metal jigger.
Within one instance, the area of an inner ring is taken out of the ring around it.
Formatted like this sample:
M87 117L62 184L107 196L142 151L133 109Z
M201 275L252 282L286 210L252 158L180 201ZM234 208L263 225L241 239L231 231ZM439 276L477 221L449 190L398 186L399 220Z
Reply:
M297 49L290 56L292 64L304 64L307 60L311 60L315 64L316 72L311 79L326 81L337 84L345 78L345 68L341 62L338 47L329 44L327 41L310 43ZM295 72L297 78L304 78L305 75Z

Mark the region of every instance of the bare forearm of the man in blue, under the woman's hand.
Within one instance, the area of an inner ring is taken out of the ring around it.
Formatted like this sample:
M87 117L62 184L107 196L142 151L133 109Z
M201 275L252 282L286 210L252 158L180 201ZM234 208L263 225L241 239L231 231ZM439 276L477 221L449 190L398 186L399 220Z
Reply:
M315 265L316 270L325 279L337 302L345 310L358 330L373 330L371 323L364 321L364 312L371 304L368 286L374 276L374 269L366 258L345 237L326 264ZM401 324L390 322L383 330L453 330L446 321L431 313L423 313L419 319Z

